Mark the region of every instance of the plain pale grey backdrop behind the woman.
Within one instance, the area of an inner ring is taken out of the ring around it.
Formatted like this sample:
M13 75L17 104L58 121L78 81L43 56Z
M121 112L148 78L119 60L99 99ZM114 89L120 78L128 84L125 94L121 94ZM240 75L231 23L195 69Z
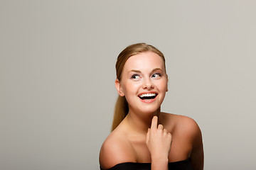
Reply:
M256 169L256 1L0 1L0 169L98 169L114 64L166 56L162 110L203 132L205 169Z

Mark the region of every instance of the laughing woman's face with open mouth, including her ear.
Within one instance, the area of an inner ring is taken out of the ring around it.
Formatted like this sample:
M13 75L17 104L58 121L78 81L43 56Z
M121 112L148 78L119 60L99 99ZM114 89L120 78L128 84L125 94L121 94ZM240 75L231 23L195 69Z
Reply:
M164 61L154 52L129 57L116 87L119 95L127 99L129 111L153 113L161 106L167 91Z

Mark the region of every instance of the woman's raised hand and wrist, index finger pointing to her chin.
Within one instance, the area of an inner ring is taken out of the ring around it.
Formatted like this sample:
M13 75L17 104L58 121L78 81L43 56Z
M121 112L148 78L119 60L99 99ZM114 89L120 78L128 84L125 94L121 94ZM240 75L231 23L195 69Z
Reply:
M152 118L151 128L149 128L146 133L146 146L151 154L152 168L154 165L159 167L156 169L161 169L160 165L168 168L168 156L171 149L171 133L167 132L161 124L157 127L157 120L157 116Z

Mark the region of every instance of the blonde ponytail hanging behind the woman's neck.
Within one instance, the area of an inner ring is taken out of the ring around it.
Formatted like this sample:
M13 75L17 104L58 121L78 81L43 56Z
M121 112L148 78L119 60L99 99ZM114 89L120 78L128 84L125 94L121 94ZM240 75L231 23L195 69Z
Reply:
M122 122L129 111L127 100L124 96L118 96L114 107L114 118L111 131L113 131Z

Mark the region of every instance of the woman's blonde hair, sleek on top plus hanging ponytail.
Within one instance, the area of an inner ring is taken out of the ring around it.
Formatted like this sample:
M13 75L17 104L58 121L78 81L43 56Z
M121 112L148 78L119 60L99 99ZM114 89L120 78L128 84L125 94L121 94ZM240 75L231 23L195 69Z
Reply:
M126 47L122 52L117 57L117 62L116 62L116 74L117 74L117 79L119 81L122 80L122 71L124 69L124 64L127 62L129 57L132 57L133 55L137 55L141 52L154 52L157 55L161 57L161 59L164 61L164 69L165 67L165 59L164 55L162 52L160 52L156 47L152 45L148 45L146 43L137 43L133 45L129 45ZM166 70L165 70L166 71ZM114 107L114 118L112 122L112 131L117 128L119 123L122 122L122 120L125 118L127 113L129 112L129 107L127 100L125 96L118 96L117 98L117 103L115 104Z

